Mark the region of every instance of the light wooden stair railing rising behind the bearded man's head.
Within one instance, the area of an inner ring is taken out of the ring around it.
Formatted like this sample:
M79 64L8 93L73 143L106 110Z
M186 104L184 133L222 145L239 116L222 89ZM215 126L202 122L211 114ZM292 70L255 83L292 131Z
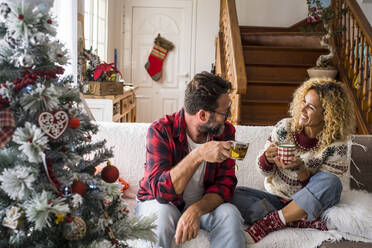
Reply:
M235 0L221 0L220 2L216 74L220 74L233 85L234 90L230 94L232 100L230 121L239 124L241 121L241 95L247 92L247 76Z

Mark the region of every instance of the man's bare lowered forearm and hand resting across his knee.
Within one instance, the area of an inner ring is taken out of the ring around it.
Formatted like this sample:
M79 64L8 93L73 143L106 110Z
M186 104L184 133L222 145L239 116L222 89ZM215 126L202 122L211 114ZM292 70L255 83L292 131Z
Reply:
M205 194L203 198L192 204L180 217L175 239L176 244L184 243L196 238L200 228L200 217L213 211L223 203L223 199L218 194Z

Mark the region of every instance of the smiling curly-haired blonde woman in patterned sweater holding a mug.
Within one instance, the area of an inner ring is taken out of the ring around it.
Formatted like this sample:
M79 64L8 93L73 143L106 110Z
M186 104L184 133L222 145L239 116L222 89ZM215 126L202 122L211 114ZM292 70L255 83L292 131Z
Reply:
M340 178L349 166L347 138L355 125L352 106L344 85L331 79L311 79L296 90L291 118L276 124L257 158L268 192L235 191L233 203L251 225L248 241L286 226L328 230L319 216L340 200ZM278 156L280 144L294 147L285 161Z

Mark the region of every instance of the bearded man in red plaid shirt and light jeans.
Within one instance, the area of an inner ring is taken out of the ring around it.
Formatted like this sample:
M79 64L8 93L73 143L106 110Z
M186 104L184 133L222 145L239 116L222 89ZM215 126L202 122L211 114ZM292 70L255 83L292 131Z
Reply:
M149 127L136 214L157 216L157 247L191 240L200 228L210 233L211 247L245 247L242 217L229 203L237 183L231 89L219 76L196 74L184 107Z

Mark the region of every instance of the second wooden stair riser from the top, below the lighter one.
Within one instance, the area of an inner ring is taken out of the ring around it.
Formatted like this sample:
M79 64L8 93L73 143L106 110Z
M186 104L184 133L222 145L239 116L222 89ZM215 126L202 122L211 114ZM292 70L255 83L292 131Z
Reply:
M243 46L245 64L315 65L328 50L302 47Z

